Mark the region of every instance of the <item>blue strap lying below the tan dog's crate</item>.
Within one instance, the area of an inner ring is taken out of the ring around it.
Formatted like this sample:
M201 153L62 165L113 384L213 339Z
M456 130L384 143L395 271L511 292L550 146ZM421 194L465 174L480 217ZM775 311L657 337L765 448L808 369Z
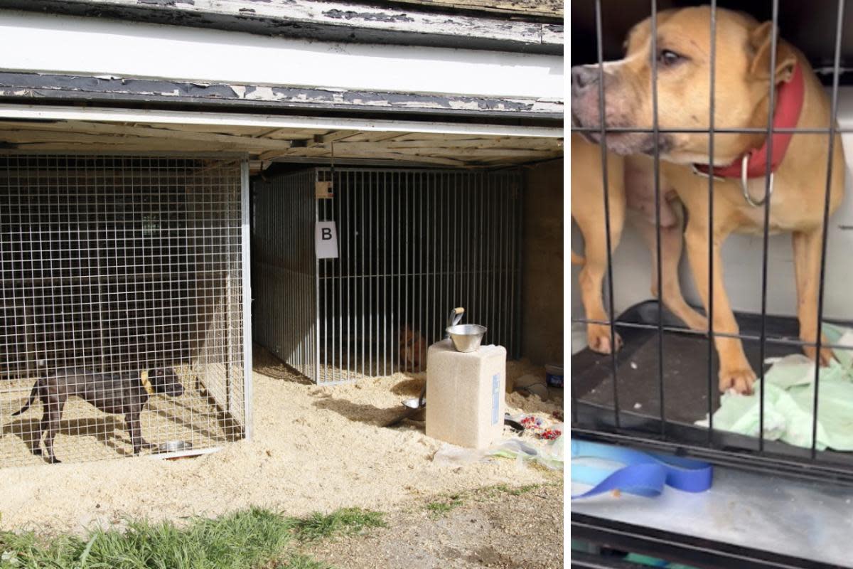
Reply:
M598 458L625 465L613 471L572 464L572 481L593 486L583 494L572 496L572 500L613 490L654 497L664 491L664 485L681 491L703 492L711 488L713 478L713 467L707 462L575 438L572 438L572 458Z

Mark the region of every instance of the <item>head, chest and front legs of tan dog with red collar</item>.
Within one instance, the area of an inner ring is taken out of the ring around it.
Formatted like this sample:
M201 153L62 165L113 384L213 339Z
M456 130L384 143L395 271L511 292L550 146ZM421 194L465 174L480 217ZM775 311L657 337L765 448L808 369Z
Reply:
M749 15L717 9L715 63L715 129L762 128L768 125L772 61L771 22L760 23ZM817 296L820 287L821 239L827 190L829 136L775 133L772 148L767 137L756 133L715 133L715 181L713 225L708 208L708 180L702 175L711 161L710 70L711 9L694 7L659 13L657 53L652 54L652 22L643 20L630 32L627 55L604 66L606 125L651 128L653 103L650 90L652 57L658 61L658 119L664 130L693 129L699 132L664 132L659 135L661 173L676 190L688 212L685 239L693 276L705 306L708 283L714 294L715 332L738 334L728 302L720 249L733 232L762 235L765 166L772 158L772 195L769 198L769 231L792 233L797 281L799 336L807 343L817 340ZM775 50L775 127L828 129L830 101L804 55L779 38ZM599 119L597 66L572 68L572 119L579 125L597 127ZM589 135L597 140L595 134ZM647 132L610 133L607 147L618 154L649 154L653 135ZM769 152L768 152L769 151ZM742 182L742 177L746 178ZM829 212L844 195L844 156L841 138L833 138ZM758 205L758 206L757 206ZM709 229L713 240L709 244ZM713 274L709 274L709 247ZM756 374L737 338L715 336L720 357L719 387L752 391ZM814 346L804 350L815 357ZM833 357L821 349L821 364Z

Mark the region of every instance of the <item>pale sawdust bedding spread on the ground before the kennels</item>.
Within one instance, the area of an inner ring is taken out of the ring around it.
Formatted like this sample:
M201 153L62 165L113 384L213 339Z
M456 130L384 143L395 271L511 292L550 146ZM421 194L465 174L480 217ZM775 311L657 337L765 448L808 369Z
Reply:
M315 386L266 351L256 350L254 357L251 441L223 444L216 453L177 461L140 456L3 468L0 529L82 532L93 525L122 527L128 519L180 522L250 506L288 515L353 506L390 509L423 496L561 476L508 460L443 466L432 462L441 443L427 438L422 423L380 427L397 415L402 398L420 392L424 374ZM544 373L529 363L510 362L508 379L531 370ZM542 402L509 394L508 409L561 411L560 391L552 390L552 396ZM3 425L9 423L5 411ZM93 413L90 408L89 415ZM122 425L115 427L122 430ZM145 433L144 422L142 428ZM72 438L74 433L57 438L57 455L62 457L63 445ZM83 439L77 444L92 448L91 456L95 451L120 454L103 437L76 438ZM15 444L22 456L28 453L15 433L3 433L0 440Z

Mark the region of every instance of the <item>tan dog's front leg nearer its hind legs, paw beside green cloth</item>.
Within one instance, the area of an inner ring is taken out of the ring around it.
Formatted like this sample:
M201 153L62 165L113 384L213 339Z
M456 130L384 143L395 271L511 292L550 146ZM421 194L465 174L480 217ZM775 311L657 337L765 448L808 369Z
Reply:
M699 217L699 216L694 216ZM702 296L705 311L708 310L708 247L711 247L711 257L714 261L714 270L711 278L714 283L714 332L722 334L739 334L734 313L728 304L728 294L722 281L722 256L720 247L722 241L728 234L715 235L714 241L708 244L708 229L704 224L698 224L691 218L688 229L684 235L688 248L688 259L690 268L693 270L693 280ZM752 384L755 382L755 372L746 360L743 344L738 338L729 338L715 335L714 345L717 347L717 355L720 357L720 391L725 392L734 388L739 393L751 393Z

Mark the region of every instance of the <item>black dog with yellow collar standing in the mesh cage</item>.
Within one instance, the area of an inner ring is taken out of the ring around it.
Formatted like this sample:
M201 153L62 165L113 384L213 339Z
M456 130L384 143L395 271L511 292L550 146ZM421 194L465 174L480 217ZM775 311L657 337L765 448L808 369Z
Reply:
M82 368L63 368L49 372L32 386L30 398L26 404L12 415L20 415L38 398L44 408L42 420L38 424L36 436L32 440L32 454L41 455L42 434L44 447L48 451L48 460L60 462L53 448L56 433L59 433L62 410L69 397L75 395L101 409L104 413L125 415L125 427L131 433L133 454L137 455L142 447L152 446L142 438L139 415L155 393L171 397L183 395L183 385L174 369L151 369L139 372L110 374Z

